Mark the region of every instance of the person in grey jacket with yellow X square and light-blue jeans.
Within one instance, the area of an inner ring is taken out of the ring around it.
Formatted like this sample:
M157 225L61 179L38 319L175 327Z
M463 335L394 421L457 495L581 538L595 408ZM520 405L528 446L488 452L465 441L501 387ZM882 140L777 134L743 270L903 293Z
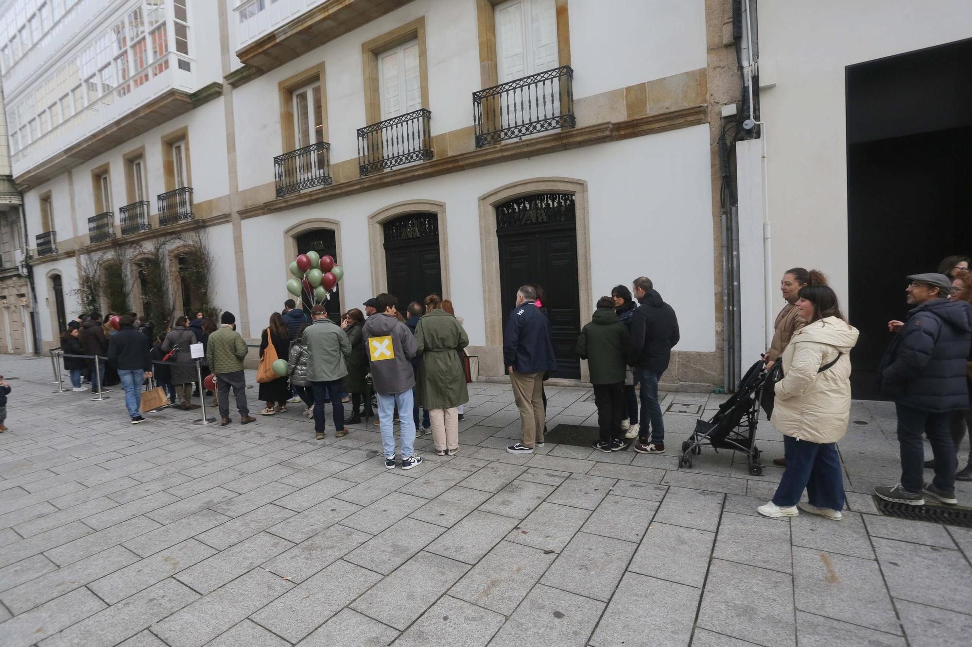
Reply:
M398 299L382 292L375 297L376 314L364 322L364 343L367 345L371 380L378 397L378 421L385 452L385 468L395 469L395 408L399 408L401 438L401 468L411 469L422 464L415 455L415 422L407 412L412 410L412 388L415 372L411 358L418 344L408 326L399 322L395 304Z

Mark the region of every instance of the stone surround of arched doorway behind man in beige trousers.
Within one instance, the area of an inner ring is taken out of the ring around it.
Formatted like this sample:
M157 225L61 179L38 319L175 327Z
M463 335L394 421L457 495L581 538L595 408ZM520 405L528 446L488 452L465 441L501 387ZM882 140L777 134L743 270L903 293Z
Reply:
M577 229L577 290L580 326L591 321L594 299L591 290L590 212L587 183L562 177L520 180L498 187L479 196L479 245L482 258L483 312L485 313L486 347L479 354L483 375L503 375L503 311L513 307L503 303L500 295L500 241L496 233L496 208L514 198L532 193L571 193ZM587 362L580 363L580 380L587 382Z

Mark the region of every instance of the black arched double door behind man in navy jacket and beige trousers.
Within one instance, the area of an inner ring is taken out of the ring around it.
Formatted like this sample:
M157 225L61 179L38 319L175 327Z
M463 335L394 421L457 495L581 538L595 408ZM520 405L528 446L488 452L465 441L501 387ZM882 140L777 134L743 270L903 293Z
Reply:
M580 334L580 294L573 194L534 193L497 205L496 234L503 326L516 302L516 290L528 283L542 286L559 365L551 376L579 379L580 360L574 353Z

